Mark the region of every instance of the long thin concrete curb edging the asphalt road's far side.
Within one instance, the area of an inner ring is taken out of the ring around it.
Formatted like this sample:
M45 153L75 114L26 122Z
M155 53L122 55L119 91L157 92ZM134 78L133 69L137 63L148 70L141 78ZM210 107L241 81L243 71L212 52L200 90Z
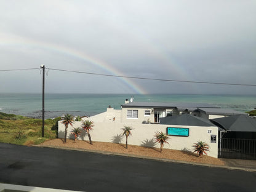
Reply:
M137 154L125 154L125 153L115 153L115 152L109 152L109 151L99 151L99 150L87 150L87 149L81 149L81 148L71 148L71 147L63 147L63 146L54 146L54 145L31 145L41 148L56 148L60 150L70 150L70 151L84 151L89 153L100 153L100 154L106 154L106 155L114 155L114 156L124 156L129 158L139 158L139 159L150 159L154 161L162 161L162 162L174 162L179 164L190 164L193 166L204 166L204 167L212 167L212 168L223 168L223 169L229 169L229 170L242 170L247 172L256 172L256 169L253 168L244 168L244 167L230 167L230 166L219 166L214 164L204 164L200 162L190 162L190 161L181 161L181 160L175 160L175 159L164 159L164 158L153 158L148 156L140 156Z

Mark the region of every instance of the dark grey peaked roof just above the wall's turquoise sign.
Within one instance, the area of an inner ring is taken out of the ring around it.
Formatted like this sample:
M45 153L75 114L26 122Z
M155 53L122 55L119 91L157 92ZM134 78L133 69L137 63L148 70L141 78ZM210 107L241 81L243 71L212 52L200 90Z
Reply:
M177 116L167 116L166 118L160 118L160 124L179 125L179 126L202 126L202 127L214 126L216 127L208 119L192 116L191 114L182 114Z

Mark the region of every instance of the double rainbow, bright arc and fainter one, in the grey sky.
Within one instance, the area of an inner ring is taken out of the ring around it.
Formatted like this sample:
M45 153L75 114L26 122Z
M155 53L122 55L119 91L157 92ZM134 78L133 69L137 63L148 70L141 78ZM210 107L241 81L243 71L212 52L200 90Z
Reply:
M119 30L121 30L119 28ZM130 31L126 29L122 29L123 31ZM121 31L122 31L121 30ZM161 47L154 45L153 42L148 41L143 35L140 36L140 34L130 34L133 38L135 38L135 41L140 42L140 45L148 55L153 55L154 58L156 58L161 64L162 67L165 68L165 70L170 70L172 73L178 74L181 80L189 79L189 74L186 73L185 69L182 67L182 65L175 65L176 62L172 62L173 58L170 58L171 56ZM86 63L90 63L94 66L97 66L101 68L103 71L105 71L106 74L113 74L116 76L126 76L126 74L119 71L117 68L113 68L110 64L103 62L102 60L98 58L94 58L89 54L86 54L85 52L81 52L76 49L71 49L70 47L60 46L59 44L44 42L44 41L38 41L35 39L30 38L24 38L20 36L0 33L0 46L25 46L25 47L32 47L32 48L38 48L38 49L44 49L49 52L57 52L58 54L68 55L69 57L73 57L75 59L82 60ZM46 66L47 67L47 66ZM87 72L87 71L86 71ZM148 94L148 92L143 89L143 87L139 86L138 84L135 84L132 79L129 78L120 78L121 81L126 84L127 87L129 87L134 94ZM196 84L191 84L189 86L189 89L197 90L198 86Z

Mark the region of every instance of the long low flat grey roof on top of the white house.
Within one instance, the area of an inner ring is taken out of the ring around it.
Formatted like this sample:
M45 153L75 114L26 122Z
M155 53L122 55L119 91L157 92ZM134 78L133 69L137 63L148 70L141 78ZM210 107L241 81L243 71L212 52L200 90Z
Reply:
M122 108L220 108L208 103L161 103L161 102L132 102L121 105Z

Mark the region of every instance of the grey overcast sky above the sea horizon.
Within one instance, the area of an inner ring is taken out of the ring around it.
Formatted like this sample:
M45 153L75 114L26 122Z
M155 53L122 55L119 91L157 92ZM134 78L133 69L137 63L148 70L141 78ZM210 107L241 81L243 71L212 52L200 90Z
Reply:
M0 70L46 68L256 84L256 1L0 1ZM46 92L256 94L255 86L46 70ZM41 92L40 70L0 71L1 92Z

